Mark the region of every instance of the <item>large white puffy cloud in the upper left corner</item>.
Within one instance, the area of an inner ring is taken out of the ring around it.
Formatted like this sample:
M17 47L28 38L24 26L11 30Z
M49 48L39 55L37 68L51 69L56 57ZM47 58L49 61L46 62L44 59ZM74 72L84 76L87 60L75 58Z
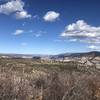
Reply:
M0 13L5 15L15 13L17 19L30 18L31 15L24 9L24 6L25 4L22 0L11 0L0 5Z

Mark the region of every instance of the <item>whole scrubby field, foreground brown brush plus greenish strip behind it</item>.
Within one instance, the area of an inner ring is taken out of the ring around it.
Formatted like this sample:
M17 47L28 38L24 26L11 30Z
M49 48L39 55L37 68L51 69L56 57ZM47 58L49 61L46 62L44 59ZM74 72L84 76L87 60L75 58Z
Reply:
M75 63L0 59L0 100L100 100L100 73Z

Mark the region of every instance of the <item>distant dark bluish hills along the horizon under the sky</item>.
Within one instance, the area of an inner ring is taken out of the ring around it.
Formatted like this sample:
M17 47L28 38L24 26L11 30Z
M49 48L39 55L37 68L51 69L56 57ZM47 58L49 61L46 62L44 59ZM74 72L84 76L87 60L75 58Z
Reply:
M50 59L59 59L64 57L83 57L83 56L99 56L99 51L92 51L92 52L84 52L84 53L63 53L58 55L37 55L37 54L0 54L1 57L10 57L10 58L33 58L33 57L47 57Z

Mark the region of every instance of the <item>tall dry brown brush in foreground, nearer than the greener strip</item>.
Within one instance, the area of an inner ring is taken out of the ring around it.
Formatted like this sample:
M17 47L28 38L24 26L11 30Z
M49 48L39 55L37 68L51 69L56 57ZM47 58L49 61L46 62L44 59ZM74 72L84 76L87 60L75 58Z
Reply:
M46 70L27 73L8 70L4 64L0 67L0 100L100 100L99 72Z

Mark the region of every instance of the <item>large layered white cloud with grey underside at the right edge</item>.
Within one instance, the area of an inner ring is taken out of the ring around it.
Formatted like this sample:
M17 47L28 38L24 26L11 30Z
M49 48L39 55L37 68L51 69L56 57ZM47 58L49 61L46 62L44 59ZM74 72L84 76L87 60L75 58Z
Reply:
M100 27L91 26L84 20L78 20L76 23L67 25L61 36L69 40L98 44L100 43Z

